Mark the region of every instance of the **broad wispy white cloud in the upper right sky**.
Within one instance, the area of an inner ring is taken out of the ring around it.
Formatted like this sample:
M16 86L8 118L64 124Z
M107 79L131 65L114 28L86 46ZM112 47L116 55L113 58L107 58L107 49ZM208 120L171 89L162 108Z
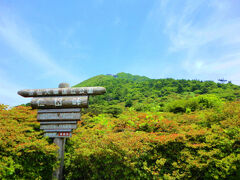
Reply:
M240 80L240 16L236 1L160 1L151 16L161 18L169 53L183 52L182 68L195 77ZM236 8L235 8L236 11ZM156 17L155 17L156 18ZM235 81L239 84L239 81Z

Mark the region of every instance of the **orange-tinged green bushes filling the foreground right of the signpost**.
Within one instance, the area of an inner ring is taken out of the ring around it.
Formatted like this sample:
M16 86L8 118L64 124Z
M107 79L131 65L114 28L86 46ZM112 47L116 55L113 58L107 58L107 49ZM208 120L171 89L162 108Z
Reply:
M206 109L84 115L68 142L66 179L238 179L240 103L196 99Z

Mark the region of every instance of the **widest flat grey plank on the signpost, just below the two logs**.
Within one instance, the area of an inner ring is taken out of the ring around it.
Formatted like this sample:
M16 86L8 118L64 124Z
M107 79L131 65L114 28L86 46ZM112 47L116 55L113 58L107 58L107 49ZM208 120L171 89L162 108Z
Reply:
M37 120L80 120L80 113L42 113L37 115Z

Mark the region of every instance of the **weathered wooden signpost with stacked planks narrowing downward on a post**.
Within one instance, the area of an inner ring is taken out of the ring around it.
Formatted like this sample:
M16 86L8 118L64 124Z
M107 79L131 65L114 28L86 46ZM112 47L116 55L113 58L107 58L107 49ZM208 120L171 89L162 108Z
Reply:
M44 136L54 138L59 147L60 167L54 172L55 179L63 179L64 147L66 138L72 136L81 119L81 108L88 107L89 95L101 95L104 87L70 88L67 83L60 83L59 88L25 89L18 91L23 97L33 97L31 106L38 109L37 120Z

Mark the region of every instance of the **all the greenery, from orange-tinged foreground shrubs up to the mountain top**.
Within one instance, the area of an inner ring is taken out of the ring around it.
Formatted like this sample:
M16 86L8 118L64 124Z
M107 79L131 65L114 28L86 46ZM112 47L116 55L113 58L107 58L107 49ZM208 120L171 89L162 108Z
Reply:
M65 179L240 179L240 87L99 75L67 140ZM50 179L57 148L30 107L0 106L0 179Z

